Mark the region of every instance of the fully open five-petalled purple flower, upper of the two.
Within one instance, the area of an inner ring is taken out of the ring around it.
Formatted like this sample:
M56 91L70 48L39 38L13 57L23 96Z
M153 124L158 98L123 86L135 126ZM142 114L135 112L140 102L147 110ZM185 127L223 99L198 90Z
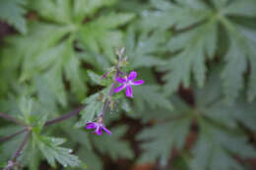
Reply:
M122 84L120 86L117 86L114 89L114 92L119 92L120 90L124 89L126 87L126 96L127 97L133 97L133 88L132 85L143 85L144 81L134 81L137 77L137 73L135 71L132 71L130 75L124 78L116 78L115 81Z

